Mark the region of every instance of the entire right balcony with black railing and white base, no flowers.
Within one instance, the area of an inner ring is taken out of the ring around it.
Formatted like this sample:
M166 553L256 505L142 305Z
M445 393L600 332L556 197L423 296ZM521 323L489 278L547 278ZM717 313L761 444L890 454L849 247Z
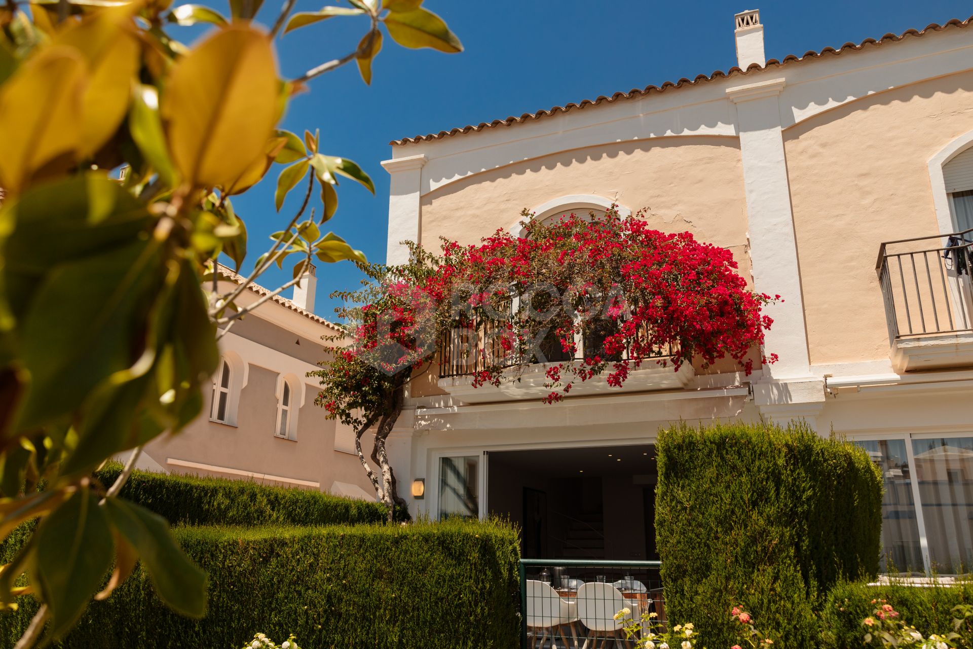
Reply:
M973 365L973 230L883 243L876 270L896 372Z

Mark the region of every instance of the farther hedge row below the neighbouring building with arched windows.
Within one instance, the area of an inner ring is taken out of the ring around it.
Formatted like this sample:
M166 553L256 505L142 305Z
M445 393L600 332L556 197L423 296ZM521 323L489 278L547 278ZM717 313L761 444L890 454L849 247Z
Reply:
M95 473L110 486L122 472L113 462ZM199 478L134 471L122 497L169 523L189 525L327 525L380 523L385 507L298 487L270 487L246 480Z

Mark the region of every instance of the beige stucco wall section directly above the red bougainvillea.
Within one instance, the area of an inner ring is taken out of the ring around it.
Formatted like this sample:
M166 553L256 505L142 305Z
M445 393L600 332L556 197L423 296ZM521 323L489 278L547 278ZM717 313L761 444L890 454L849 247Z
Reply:
M739 143L733 137L687 136L566 151L478 173L422 197L422 244L439 236L475 243L517 223L524 207L571 195L615 199L663 232L689 231L734 249L741 270L746 203Z

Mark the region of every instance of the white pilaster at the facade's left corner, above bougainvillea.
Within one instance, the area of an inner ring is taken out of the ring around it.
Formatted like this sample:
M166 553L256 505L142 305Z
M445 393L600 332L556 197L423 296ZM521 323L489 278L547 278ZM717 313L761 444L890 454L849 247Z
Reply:
M395 158L381 163L392 176L388 197L388 248L386 264L409 261L409 249L401 241L419 241L421 229L420 196L423 155Z

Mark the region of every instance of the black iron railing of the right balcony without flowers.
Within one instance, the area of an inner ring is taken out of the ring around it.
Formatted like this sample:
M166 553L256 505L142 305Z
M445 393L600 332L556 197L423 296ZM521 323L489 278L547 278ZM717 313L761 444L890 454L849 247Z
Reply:
M876 270L889 340L973 331L973 229L887 241Z

